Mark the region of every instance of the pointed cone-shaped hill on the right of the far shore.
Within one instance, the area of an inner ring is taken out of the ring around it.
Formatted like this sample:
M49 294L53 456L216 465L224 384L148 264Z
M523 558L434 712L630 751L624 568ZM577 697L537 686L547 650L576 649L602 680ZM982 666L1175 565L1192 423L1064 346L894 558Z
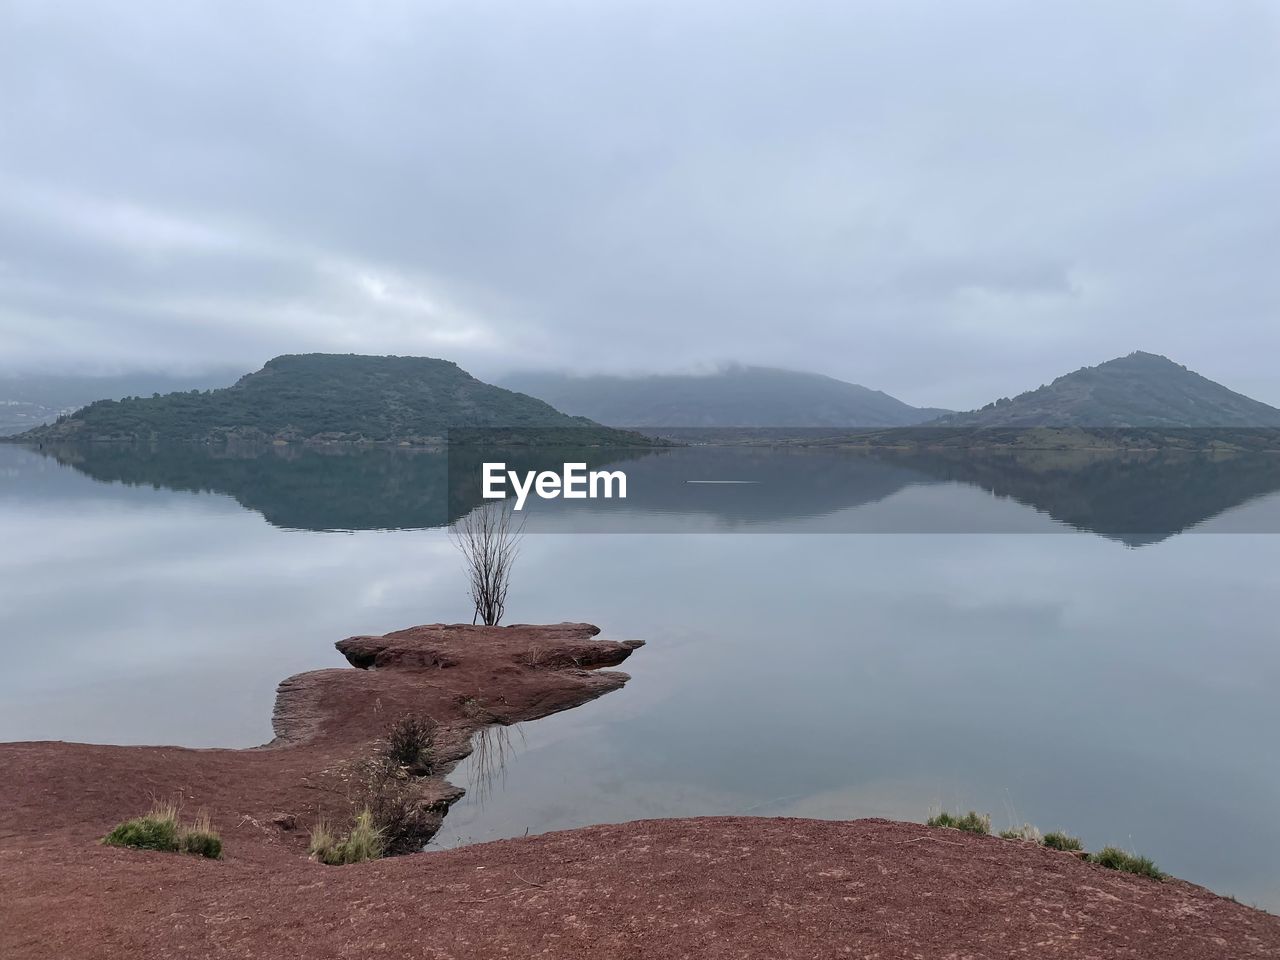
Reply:
M936 426L1280 426L1280 410L1229 390L1167 357L1130 353L1002 398Z

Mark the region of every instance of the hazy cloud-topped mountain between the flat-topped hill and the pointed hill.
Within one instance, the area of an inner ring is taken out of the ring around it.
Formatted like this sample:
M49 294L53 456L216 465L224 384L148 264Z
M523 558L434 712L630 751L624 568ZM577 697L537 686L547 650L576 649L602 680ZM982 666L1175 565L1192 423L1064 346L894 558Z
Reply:
M909 426L946 412L831 376L762 366L635 378L521 372L499 383L611 426Z

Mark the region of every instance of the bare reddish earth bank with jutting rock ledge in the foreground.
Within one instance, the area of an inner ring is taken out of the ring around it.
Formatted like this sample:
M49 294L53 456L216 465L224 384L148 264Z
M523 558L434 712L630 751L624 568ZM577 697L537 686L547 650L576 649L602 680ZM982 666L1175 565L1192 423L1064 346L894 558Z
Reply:
M351 867L305 856L346 764L429 714L457 759L490 723L616 690L639 644L589 625L352 637L365 669L280 685L253 750L0 745L0 957L1280 957L1280 918L1030 844L887 820L643 820ZM442 777L415 781L440 810ZM154 796L225 858L96 841Z

